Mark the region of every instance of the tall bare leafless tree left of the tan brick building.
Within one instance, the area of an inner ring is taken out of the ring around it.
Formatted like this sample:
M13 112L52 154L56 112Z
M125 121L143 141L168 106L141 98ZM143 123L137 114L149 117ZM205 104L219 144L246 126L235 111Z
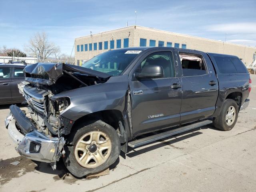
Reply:
M26 46L26 51L31 55L37 55L40 59L46 59L55 52L60 52L60 48L55 46L53 42L48 41L48 36L45 32L38 32L34 34Z

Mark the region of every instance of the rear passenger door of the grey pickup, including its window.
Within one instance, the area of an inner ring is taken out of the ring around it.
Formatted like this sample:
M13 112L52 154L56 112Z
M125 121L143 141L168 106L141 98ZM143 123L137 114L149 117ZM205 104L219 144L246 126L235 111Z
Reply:
M186 50L179 52L182 66L180 123L211 116L218 97L218 80L208 55Z

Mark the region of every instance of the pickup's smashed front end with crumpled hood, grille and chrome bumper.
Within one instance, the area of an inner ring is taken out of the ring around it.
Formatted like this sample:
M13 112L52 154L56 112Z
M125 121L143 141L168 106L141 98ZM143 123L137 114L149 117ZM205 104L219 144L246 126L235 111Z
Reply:
M27 110L12 105L5 120L20 155L52 163L56 168L56 161L65 153L66 135L74 124L61 115L68 110L70 98L58 94L108 80L109 76L96 73L66 64L38 63L24 69L26 81L18 84L18 88L28 103Z

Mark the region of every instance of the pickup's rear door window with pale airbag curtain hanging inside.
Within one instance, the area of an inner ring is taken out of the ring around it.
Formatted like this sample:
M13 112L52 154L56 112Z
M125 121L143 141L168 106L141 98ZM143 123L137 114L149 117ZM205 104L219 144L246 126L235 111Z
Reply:
M198 76L206 74L206 66L200 55L180 53L183 76Z

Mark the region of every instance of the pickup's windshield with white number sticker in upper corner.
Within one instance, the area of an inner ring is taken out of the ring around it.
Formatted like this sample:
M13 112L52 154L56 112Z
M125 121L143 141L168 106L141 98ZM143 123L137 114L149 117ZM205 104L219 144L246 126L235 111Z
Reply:
M118 76L140 52L141 50L110 50L88 60L82 67Z

